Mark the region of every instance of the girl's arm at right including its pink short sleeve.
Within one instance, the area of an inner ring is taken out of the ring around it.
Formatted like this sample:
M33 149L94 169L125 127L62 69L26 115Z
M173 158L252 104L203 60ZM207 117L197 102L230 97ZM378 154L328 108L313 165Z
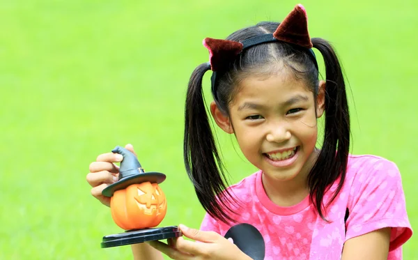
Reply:
M412 229L398 167L383 158L366 158L357 169L350 194L343 249L347 258L343 259L362 254L374 254L369 259L402 259L400 247L412 236Z

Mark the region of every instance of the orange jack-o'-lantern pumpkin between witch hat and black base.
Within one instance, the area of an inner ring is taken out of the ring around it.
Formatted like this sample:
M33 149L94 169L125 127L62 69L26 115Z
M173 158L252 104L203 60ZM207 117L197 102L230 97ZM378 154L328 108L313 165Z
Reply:
M110 199L111 217L125 230L156 227L167 212L167 201L157 183L132 184Z

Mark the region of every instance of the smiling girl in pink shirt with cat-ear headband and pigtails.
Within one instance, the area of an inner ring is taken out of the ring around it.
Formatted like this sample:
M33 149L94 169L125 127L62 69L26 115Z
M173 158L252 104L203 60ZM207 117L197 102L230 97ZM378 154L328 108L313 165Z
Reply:
M184 236L201 243L178 238L133 245L135 259L162 259L157 250L172 259L249 259L224 238L236 223L261 232L266 260L402 259L412 229L398 168L384 158L348 153L343 73L331 45L309 37L303 6L281 24L261 22L203 45L210 63L198 66L189 82L184 155L207 214L200 230L180 225ZM325 81L318 79L312 47L323 56ZM212 117L259 169L229 188L203 101L208 70ZM320 116L325 129L316 148ZM112 162L120 160L100 155L87 176L93 196L107 205L101 191L118 172Z

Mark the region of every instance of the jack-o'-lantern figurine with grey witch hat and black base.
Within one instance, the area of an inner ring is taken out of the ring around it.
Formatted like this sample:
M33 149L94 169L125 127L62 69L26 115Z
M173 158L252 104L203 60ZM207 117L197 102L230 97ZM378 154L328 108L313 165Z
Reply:
M182 236L176 226L157 227L167 212L167 201L158 184L166 176L145 172L137 157L126 148L116 146L113 153L123 155L119 180L102 191L110 197L111 217L125 233L104 236L102 247L115 247Z

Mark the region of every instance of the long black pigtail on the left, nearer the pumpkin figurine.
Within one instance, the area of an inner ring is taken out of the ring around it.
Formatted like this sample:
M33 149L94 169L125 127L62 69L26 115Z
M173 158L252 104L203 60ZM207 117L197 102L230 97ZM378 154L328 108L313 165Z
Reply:
M226 222L233 221L225 212L229 207L226 206L228 199L224 197L231 195L226 190L224 166L210 128L202 91L203 75L208 70L209 63L201 64L189 80L185 103L184 160L203 208L212 217Z

